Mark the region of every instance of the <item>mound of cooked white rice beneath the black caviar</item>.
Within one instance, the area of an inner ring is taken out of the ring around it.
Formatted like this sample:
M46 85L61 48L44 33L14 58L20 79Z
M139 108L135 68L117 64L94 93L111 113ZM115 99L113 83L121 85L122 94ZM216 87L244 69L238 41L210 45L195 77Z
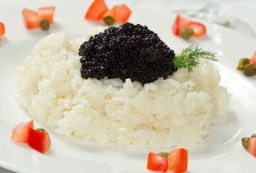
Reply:
M85 80L78 56L84 40L51 34L17 68L17 100L55 133L126 148L195 146L228 106L230 95L208 60L193 73L179 69L145 86Z

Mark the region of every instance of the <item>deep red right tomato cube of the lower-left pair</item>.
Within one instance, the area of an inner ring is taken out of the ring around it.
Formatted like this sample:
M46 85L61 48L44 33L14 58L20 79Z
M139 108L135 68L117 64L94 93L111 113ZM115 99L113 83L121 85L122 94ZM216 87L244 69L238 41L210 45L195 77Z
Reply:
M29 134L29 147L40 153L45 153L51 146L49 134L42 130L31 130Z

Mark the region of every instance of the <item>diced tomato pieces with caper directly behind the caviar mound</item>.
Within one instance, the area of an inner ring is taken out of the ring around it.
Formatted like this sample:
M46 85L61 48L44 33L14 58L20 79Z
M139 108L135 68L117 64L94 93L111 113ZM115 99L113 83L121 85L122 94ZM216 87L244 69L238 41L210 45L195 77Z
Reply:
M111 10L104 0L94 0L90 5L84 19L104 20L107 25L116 23L125 23L131 15L131 10L125 4L114 6Z

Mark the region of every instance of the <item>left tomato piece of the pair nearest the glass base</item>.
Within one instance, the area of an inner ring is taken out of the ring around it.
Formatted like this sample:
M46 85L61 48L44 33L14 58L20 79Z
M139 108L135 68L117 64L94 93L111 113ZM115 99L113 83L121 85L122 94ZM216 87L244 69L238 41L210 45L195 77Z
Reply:
M191 20L181 17L180 14L177 15L175 22L172 25L172 32L174 35L180 35L180 31L184 27L189 27L191 25Z

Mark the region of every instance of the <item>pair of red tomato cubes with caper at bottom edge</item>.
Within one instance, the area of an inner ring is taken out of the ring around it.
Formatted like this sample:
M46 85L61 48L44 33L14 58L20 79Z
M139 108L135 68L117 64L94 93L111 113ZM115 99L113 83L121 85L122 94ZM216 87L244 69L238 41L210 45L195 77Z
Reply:
M175 173L186 172L188 168L188 151L183 148L172 150L170 153L161 152L148 154L147 169L153 171Z

